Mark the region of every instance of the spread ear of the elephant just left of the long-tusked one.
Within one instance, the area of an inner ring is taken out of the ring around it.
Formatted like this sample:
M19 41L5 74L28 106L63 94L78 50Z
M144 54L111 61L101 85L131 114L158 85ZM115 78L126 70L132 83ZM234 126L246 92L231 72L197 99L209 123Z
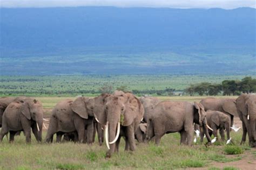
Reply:
M73 103L71 104L71 109L73 112L78 114L80 117L87 119L88 113L85 107L84 97L78 97Z

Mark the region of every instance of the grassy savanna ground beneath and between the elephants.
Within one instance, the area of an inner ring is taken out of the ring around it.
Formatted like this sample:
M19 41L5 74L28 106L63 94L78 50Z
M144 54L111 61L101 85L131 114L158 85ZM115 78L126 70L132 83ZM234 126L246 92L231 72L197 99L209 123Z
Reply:
M197 101L206 96L159 96L161 100ZM223 96L217 96L223 97ZM237 97L237 96L230 96ZM42 101L46 119L50 118L54 105L65 98L37 97ZM45 122L46 123L46 122ZM241 126L239 118L234 124ZM46 126L48 126L46 124ZM135 152L124 151L121 140L119 153L105 158L107 147L99 146L97 139L92 145L78 143L37 143L32 136L31 144L25 137L16 136L9 144L6 137L0 144L1 169L255 169L256 150L247 144L240 145L242 131L232 131L232 144L216 142L206 147L197 141L192 147L179 144L179 133L165 134L160 146L139 143ZM43 138L46 129L43 132ZM198 139L199 140L199 139ZM248 140L248 139L247 139ZM204 141L204 143L206 140Z

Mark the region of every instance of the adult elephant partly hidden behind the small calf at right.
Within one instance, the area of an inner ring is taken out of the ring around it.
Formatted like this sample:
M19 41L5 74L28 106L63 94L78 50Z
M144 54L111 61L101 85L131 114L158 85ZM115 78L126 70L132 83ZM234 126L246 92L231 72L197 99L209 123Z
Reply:
M238 116L235 99L207 97L201 100L200 103L204 105L205 111L221 111L224 112L224 114L230 116L231 126L233 126L234 116Z

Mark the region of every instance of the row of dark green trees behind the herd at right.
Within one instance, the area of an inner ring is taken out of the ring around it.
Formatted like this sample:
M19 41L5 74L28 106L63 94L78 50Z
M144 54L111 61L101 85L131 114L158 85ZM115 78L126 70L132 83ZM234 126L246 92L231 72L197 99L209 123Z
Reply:
M241 93L256 93L256 79L252 77L244 77L242 80L224 80L220 84L212 84L201 82L191 84L190 87L184 90L186 94L193 95L240 95Z

